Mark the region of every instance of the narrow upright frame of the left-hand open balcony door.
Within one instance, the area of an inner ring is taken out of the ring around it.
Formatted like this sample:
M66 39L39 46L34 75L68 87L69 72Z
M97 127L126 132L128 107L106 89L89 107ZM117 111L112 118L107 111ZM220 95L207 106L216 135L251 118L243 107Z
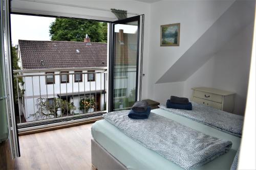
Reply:
M8 138L10 142L10 149L12 159L20 156L19 141L18 141L18 130L15 117L15 107L14 107L14 84L13 84L13 65L12 65L12 43L11 43L11 22L10 22L10 10L11 1L3 0L1 1L1 41L3 43L1 50L3 55L3 78L5 96L6 96L6 112L8 121Z

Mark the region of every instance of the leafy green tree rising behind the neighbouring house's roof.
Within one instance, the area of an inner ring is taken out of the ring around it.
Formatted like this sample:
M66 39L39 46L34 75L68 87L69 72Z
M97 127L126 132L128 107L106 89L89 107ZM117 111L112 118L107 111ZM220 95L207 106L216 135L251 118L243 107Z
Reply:
M86 34L91 42L106 42L108 26L104 22L56 18L50 25L50 36L52 41L80 41Z

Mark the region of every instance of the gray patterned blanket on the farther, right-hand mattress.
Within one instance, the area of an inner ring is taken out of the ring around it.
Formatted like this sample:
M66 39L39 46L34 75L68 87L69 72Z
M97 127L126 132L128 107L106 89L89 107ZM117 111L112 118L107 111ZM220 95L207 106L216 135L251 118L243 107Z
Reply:
M192 110L171 109L160 105L160 108L174 114L185 116L197 122L229 133L234 136L242 136L244 116L228 113L222 110L192 103Z

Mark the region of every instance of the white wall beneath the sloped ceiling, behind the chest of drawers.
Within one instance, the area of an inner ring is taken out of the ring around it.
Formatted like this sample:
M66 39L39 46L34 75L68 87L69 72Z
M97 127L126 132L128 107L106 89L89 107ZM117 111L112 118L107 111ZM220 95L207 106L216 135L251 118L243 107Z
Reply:
M244 114L252 48L253 23L233 37L222 50L185 81L184 96L193 87L214 87L236 92L235 114Z

